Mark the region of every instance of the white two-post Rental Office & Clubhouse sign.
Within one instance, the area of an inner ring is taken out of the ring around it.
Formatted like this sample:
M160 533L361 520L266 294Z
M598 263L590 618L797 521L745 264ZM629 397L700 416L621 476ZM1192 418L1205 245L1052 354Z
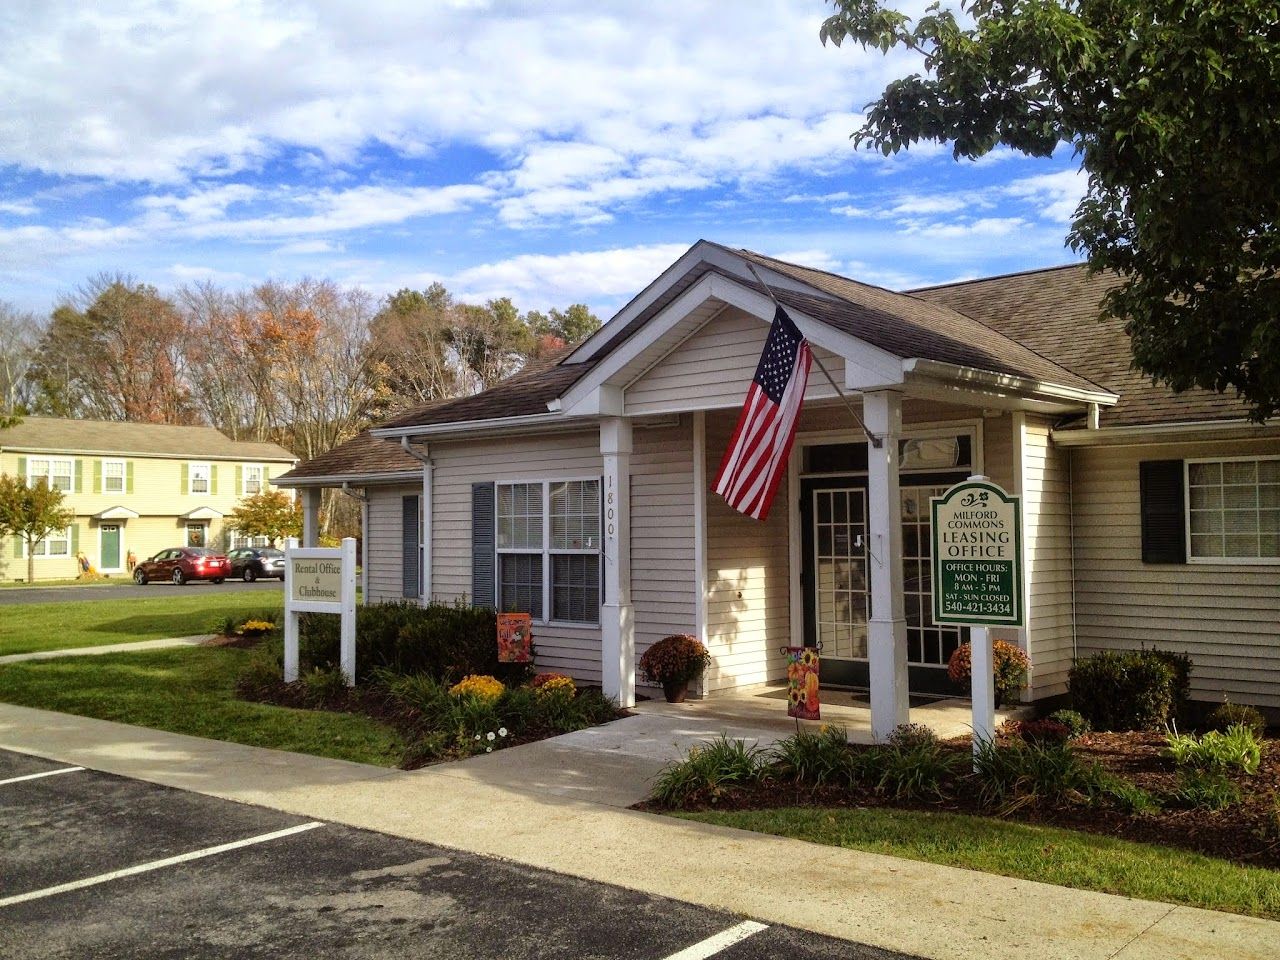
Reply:
M284 682L298 678L298 614L342 617L339 663L347 686L356 685L356 540L338 548L284 541Z

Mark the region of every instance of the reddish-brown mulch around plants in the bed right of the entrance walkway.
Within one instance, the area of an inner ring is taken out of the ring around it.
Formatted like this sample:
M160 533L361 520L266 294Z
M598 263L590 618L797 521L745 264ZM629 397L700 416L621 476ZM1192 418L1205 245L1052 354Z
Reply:
M968 740L947 744L969 754ZM1085 762L1097 760L1112 773L1133 781L1157 797L1166 797L1176 783L1174 762L1161 756L1165 739L1160 733L1089 733L1073 741ZM852 746L850 749L858 750ZM865 748L863 748L865 749ZM1242 801L1226 810L1179 809L1167 806L1155 813L1126 814L1120 810L1088 806L1023 806L1005 819L1066 827L1121 840L1192 850L1248 867L1280 869L1280 745L1267 741L1262 765L1253 777L1235 778ZM973 790L948 790L948 797L934 803L897 801L872 788L806 787L794 783L764 783L735 788L714 804L686 805L684 809L755 810L780 806L897 808L997 815L980 806ZM641 808L657 809L649 804Z

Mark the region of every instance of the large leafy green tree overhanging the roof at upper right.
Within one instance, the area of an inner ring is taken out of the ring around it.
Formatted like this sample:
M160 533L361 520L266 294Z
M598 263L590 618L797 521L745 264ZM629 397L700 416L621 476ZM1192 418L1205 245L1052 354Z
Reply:
M1123 279L1103 308L1137 367L1280 410L1280 1L961 0L916 20L832 3L824 44L923 68L869 105L859 145L973 160L1069 143L1088 188L1068 242Z

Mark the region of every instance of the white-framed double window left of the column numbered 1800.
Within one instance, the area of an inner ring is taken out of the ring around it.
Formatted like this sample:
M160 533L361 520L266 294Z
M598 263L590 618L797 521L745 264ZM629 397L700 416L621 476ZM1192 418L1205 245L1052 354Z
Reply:
M497 485L498 609L600 622L600 481Z

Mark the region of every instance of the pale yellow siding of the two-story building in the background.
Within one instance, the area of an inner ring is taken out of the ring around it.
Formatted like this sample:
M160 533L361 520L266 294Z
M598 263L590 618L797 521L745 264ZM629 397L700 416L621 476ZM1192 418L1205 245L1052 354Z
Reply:
M0 452L0 474L19 475L22 460L70 460L74 463L76 477L73 488L65 494L65 504L76 511L78 547L95 568L102 567L100 549L101 525L93 518L111 507L125 507L138 515L137 518L105 521L120 525L120 570L111 576L128 576L124 558L132 550L140 561L152 557L170 547L183 547L187 543L187 525L180 515L197 507L210 507L221 515L230 513L243 492L236 483L237 467L261 466L264 483L271 476L279 476L289 470L289 463L261 463L253 461L225 460L178 460L169 457L90 457L76 453L32 454L20 451ZM101 484L101 463L106 460L122 460L125 470L132 466L132 492L106 493ZM216 490L205 494L187 493L182 483L182 467L191 463L209 463L216 468ZM78 492L77 492L78 488ZM227 545L227 527L221 520L207 524L209 545ZM37 557L36 579L56 580L77 575L76 558ZM13 538L0 545L0 579L26 579L27 561L15 556Z

